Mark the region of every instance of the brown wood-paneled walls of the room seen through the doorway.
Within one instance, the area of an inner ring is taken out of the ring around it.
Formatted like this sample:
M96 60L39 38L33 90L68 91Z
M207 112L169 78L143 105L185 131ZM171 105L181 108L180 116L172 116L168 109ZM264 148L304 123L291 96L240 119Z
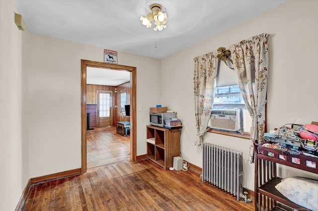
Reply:
M115 93L115 88L117 92ZM112 125L116 126L116 122L124 121L124 116L120 113L120 91L127 89L127 103L130 104L130 82L121 84L117 87L103 85L86 85L86 104L97 104L96 91L112 91ZM117 106L117 107L115 107ZM126 116L125 121L130 121L130 117Z

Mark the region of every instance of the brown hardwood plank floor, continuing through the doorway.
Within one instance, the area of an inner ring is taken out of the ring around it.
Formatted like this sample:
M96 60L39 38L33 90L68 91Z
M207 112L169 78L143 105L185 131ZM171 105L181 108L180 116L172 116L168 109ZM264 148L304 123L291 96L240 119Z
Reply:
M120 145L129 148L125 141L129 136L117 137L118 134L109 135L109 131L108 135L102 135L104 132L100 129L93 133L87 131L87 136L91 136L87 138L91 140L87 142L90 145L87 149L91 152L104 149L111 154L106 156L109 160L100 155L91 156L91 166L96 167L90 167L84 174L32 185L22 211L254 210L253 202L237 202L235 196L201 182L200 175L194 171L177 174L149 160L130 162L129 153L117 157L107 149ZM111 141L112 136L117 137L116 142ZM103 141L99 143L93 141L95 139ZM104 142L120 145L105 147ZM87 151L87 157L89 153Z

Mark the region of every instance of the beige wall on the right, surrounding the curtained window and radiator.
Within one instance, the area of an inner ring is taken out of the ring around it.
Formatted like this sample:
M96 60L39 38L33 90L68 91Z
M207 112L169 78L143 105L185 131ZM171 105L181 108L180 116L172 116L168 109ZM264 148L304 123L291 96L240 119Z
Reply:
M268 128L292 123L297 118L318 120L317 8L317 0L289 0L161 60L162 104L177 110L178 117L183 119L181 153L184 159L202 166L201 148L194 146L193 58L219 47L228 48L257 34L270 34ZM249 140L208 133L204 141L242 151L243 186L253 190L254 165L247 162ZM295 174L286 168L280 173Z

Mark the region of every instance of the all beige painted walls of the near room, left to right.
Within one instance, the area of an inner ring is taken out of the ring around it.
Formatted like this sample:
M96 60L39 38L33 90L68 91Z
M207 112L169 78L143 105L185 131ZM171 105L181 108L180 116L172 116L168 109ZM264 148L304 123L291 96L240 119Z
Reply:
M80 59L103 61L104 48L18 31L15 1L0 5L0 208L14 210L29 178L80 167ZM201 148L194 147L193 57L264 32L270 34L268 128L318 120L317 7L317 0L289 0L162 60L118 52L119 64L137 67L137 155L146 154L149 107L161 104L184 121L183 158L201 166ZM253 189L249 141L211 133L204 140L243 151L243 186Z

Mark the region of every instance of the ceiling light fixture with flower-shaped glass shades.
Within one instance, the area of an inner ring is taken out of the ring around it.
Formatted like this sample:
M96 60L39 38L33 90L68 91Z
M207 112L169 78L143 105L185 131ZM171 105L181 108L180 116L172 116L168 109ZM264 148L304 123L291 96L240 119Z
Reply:
M150 9L151 12L146 17L140 16L141 23L150 28L152 26L151 21L155 20L155 31L165 29L166 25L164 24L167 22L167 14L161 12L162 6L159 3L154 3L150 5Z

